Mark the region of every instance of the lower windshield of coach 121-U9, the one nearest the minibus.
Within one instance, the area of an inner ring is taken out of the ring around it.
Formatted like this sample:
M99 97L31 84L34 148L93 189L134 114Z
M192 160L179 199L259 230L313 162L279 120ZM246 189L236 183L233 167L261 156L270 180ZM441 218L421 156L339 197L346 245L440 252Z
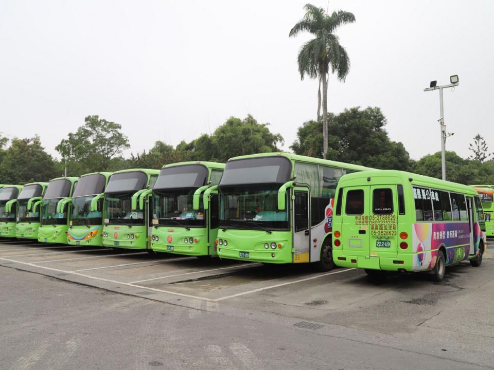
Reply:
M278 189L277 184L221 188L220 227L289 229L288 207L278 210Z

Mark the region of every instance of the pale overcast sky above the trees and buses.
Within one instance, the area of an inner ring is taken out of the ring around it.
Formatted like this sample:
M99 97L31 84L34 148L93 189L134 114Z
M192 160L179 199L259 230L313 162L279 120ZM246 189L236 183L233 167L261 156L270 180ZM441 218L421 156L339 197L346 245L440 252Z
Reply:
M131 150L177 145L252 114L285 138L314 119L317 81L301 81L296 57L310 35L288 38L305 1L0 2L0 132L55 146L87 115L120 123ZM494 151L494 2L330 1L355 14L338 29L351 68L329 79L328 110L378 106L392 140L414 159L440 150L439 94L469 155L478 132Z

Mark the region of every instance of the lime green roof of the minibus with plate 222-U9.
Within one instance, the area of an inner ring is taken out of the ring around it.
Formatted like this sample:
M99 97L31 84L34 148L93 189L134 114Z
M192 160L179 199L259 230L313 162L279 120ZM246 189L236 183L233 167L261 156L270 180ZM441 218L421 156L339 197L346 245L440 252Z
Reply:
M368 178L370 178L370 180L368 180ZM397 170L372 170L354 172L348 175L344 175L340 179L338 185L341 187L352 186L351 183L357 179L365 179L365 183L369 185L410 182L412 185L416 186L426 186L457 193L477 195L477 192L467 185Z

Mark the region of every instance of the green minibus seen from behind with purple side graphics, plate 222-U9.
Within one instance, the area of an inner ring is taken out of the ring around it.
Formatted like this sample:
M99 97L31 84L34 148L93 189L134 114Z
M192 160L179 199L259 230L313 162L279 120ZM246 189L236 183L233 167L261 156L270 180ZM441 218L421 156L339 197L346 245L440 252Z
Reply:
M466 185L402 171L340 179L333 217L333 258L342 267L426 271L469 260L480 266L486 246L479 194Z

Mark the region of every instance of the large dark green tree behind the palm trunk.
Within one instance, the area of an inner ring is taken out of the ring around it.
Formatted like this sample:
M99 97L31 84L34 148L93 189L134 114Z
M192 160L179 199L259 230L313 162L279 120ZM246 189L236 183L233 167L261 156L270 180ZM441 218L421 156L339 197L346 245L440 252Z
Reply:
M391 141L384 130L381 109L354 107L334 116L329 114L327 158L378 169L408 171L412 161L401 142ZM296 154L323 157L322 120L307 121L290 146Z

